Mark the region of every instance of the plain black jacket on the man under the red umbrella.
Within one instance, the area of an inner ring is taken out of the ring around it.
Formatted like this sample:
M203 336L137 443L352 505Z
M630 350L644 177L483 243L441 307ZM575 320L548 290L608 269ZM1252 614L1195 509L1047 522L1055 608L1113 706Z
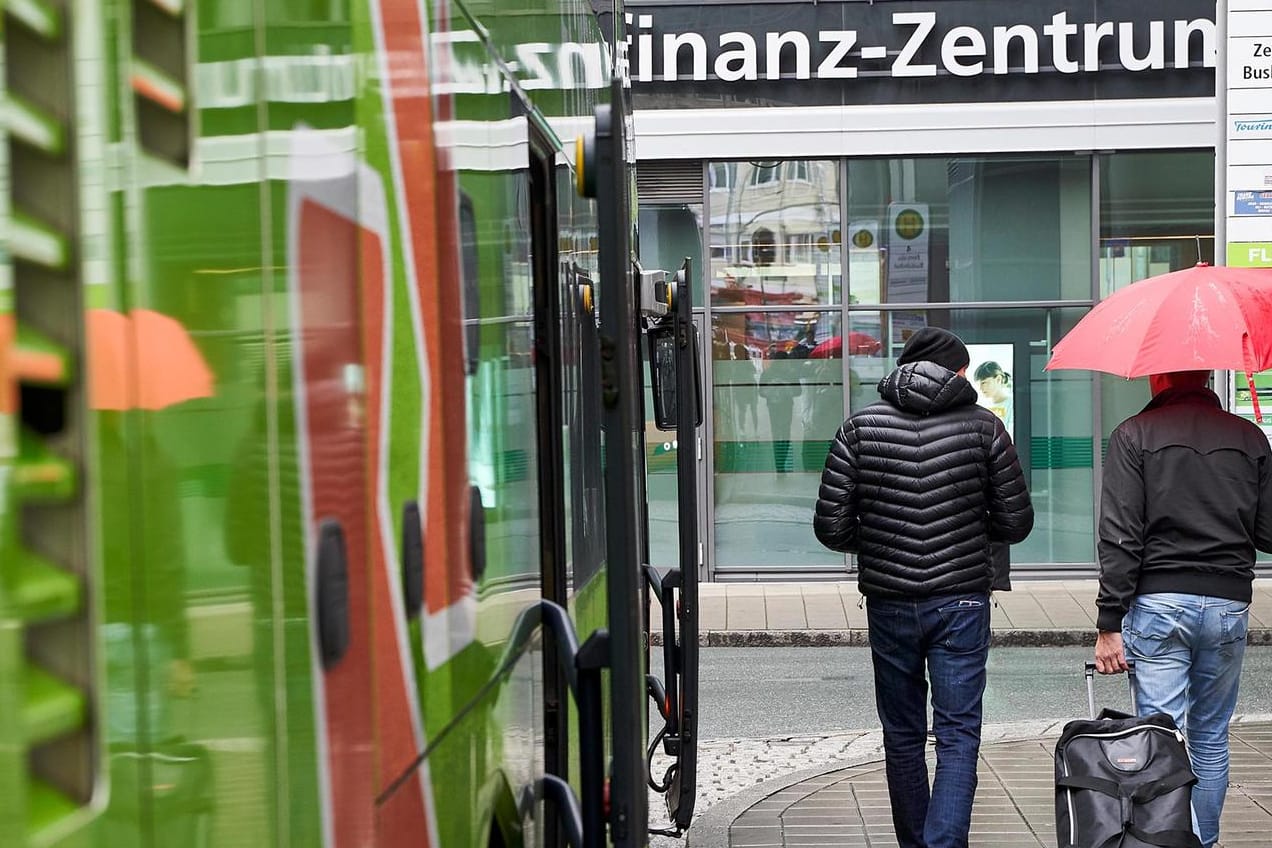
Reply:
M1109 439L1100 496L1102 631L1136 595L1250 600L1272 551L1272 449L1208 389L1166 389Z

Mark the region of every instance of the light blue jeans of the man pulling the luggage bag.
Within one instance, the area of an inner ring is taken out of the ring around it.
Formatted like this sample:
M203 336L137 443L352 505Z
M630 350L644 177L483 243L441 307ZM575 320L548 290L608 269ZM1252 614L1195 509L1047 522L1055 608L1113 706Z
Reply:
M1207 847L1219 839L1227 795L1227 723L1249 618L1245 601L1160 592L1136 598L1122 620L1126 657L1140 680L1140 715L1166 713L1188 740L1197 837Z

